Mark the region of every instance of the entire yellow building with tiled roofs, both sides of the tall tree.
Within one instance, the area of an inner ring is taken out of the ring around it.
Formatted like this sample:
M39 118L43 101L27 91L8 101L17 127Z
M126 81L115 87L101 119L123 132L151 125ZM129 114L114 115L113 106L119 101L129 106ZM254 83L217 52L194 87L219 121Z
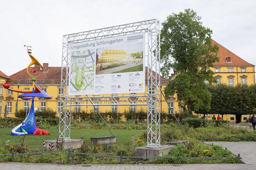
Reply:
M215 77L218 83L226 83L231 86L235 86L239 83L246 83L247 85L251 85L255 83L255 66L244 61L236 54L233 54L228 49L224 48L222 45L218 44L214 40L212 43L217 44L219 46L218 57L220 58L219 62L214 63L213 68L209 68L215 72ZM7 77L7 78L6 78ZM11 87L14 89L26 90L32 88L32 80L26 74L26 69L23 69L11 76L0 77L0 92L1 92L1 85L6 82L6 80L11 79L9 82ZM172 75L169 79L164 79L161 77L161 89L164 91L167 83L172 81L175 78L175 74ZM146 78L145 78L146 79ZM35 108L38 110L43 110L45 108L51 108L53 111L58 112L61 109L60 105L60 94L61 94L61 67L48 67L47 63L43 64L43 71L41 75L37 78L37 84L46 91L53 99L50 100L38 100L35 99ZM145 81L145 94L147 94L147 80ZM31 105L31 102L22 100L17 98L19 94L16 92L9 92L6 89L2 88L2 94L0 93L0 104L1 104L1 117L4 115L5 106L8 104L8 117L15 117L15 111L28 108ZM133 95L133 94L104 94L105 96L108 95ZM137 95L143 95L137 93ZM122 100L122 98L119 98ZM143 99L146 102L146 98ZM175 96L169 97L168 102L171 105L171 108L168 107L168 104L164 100L164 97L161 95L160 97L160 105L162 112L170 112L172 109L175 113L179 113L181 111L180 106L178 105L177 99ZM17 107L16 107L17 102ZM89 102L88 102L89 103ZM80 106L79 102L75 103L76 106L72 107L72 111L86 111L90 112L93 111L93 106ZM16 109L17 108L17 109ZM107 112L107 111L117 111L117 112L124 112L124 111L139 111L143 109L146 111L147 106L123 106L123 105L113 105L113 106L97 106L99 112ZM202 115L198 115L201 117ZM244 121L246 117L249 115L242 115L241 121ZM212 119L212 115L206 115L207 119ZM223 115L224 120L234 121L237 119L235 115Z

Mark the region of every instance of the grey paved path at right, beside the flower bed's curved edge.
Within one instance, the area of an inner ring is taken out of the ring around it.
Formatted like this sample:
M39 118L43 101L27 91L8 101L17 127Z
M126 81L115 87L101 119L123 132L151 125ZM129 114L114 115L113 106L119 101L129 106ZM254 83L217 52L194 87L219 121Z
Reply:
M256 142L204 142L227 147L234 154L239 154L246 164L256 164ZM254 167L256 170L256 167Z

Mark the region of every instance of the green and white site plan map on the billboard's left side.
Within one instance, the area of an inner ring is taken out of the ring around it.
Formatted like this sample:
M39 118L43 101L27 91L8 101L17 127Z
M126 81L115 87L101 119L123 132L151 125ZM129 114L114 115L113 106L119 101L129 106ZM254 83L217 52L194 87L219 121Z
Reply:
M95 78L95 49L71 52L70 92L93 91Z

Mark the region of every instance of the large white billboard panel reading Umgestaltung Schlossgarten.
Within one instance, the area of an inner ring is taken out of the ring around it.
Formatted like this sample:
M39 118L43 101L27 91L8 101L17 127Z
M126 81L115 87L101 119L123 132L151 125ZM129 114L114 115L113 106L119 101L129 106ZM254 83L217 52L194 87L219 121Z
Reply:
M70 45L69 95L145 92L145 34Z

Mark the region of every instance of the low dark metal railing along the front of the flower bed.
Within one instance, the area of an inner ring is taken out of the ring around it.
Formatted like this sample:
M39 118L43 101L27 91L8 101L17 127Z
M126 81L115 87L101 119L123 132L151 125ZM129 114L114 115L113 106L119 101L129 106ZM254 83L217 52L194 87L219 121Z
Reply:
M227 148L226 148L227 149ZM11 161L14 160L14 156L24 156L24 155L37 155L42 153L67 153L67 161L70 161L70 154L78 154L78 155L85 155L85 156L97 156L97 157L111 157L111 158L119 158L120 164L123 163L124 158L132 158L132 159L174 159L174 158L180 158L180 159L242 159L240 154L236 155L235 157L192 157L192 156L180 156L180 153L177 154L177 156L123 156L123 153L121 152L119 156L113 156L113 155L98 155L94 153L80 153L80 152L72 152L70 149L67 151L64 150L52 150L52 151L43 151L43 152L34 152L34 153L18 153L15 154L15 152L12 150L10 154L8 153L0 153L0 156L11 156Z

